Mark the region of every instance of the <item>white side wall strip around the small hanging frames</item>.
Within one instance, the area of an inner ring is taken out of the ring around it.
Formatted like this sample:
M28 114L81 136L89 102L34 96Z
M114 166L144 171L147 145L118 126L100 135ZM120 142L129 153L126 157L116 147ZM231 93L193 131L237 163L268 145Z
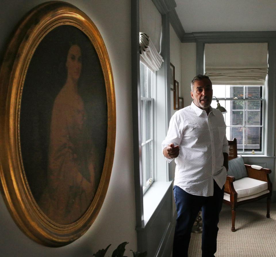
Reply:
M172 25L170 24L170 63L175 66L175 80L179 83L179 97L182 95L182 78L181 78L181 42L177 37ZM173 91L170 91L171 115L177 110L173 110Z

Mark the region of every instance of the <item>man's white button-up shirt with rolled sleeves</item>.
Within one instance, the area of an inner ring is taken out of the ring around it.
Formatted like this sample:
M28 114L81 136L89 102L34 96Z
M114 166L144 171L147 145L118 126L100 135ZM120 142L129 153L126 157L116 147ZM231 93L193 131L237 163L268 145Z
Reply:
M213 179L220 188L223 187L226 181L223 153L229 154L229 148L226 125L219 110L210 106L207 116L205 110L192 102L175 112L162 142L162 152L170 143L179 145L174 185L192 195L202 196L213 195Z

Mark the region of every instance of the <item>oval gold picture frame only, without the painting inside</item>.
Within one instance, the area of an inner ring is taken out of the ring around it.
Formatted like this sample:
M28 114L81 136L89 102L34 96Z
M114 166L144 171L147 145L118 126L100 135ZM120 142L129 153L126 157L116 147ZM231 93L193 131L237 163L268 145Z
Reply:
M97 192L76 222L60 225L47 218L32 197L20 154L19 116L22 89L32 55L44 36L60 25L72 25L93 44L104 75L108 110L107 147ZM114 159L116 107L114 81L104 41L91 19L74 5L52 1L32 9L20 23L0 70L0 176L5 203L20 229L46 246L64 246L83 235L97 217L108 189Z

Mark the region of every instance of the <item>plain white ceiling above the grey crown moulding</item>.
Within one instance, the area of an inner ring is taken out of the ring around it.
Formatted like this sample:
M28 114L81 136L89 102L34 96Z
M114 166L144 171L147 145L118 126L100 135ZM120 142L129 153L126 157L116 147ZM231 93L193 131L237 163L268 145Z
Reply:
M185 33L276 30L276 0L175 0Z

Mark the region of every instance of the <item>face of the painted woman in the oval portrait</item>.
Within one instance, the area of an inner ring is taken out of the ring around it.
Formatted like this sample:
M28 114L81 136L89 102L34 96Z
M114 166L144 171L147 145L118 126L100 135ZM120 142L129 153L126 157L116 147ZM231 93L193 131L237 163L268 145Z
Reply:
M82 60L81 49L78 45L72 45L68 51L66 67L67 76L78 80L81 75Z

